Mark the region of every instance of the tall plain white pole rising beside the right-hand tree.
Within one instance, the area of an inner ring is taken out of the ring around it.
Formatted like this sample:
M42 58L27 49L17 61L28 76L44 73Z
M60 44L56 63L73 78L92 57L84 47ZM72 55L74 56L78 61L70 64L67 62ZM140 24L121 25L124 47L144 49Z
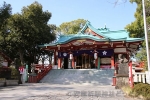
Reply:
M146 15L145 15L145 0L142 0L143 6L143 19L144 19L144 32L145 32L145 42L146 42L146 53L147 53L147 63L148 63L148 80L150 83L150 53L149 53L149 46L148 46L148 35L147 35L147 26L146 26Z

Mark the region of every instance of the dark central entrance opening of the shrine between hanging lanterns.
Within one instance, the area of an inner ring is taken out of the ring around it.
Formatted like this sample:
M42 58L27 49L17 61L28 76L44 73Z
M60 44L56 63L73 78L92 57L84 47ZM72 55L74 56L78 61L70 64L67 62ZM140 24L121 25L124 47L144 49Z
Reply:
M94 58L86 53L76 56L76 69L91 69L94 68Z

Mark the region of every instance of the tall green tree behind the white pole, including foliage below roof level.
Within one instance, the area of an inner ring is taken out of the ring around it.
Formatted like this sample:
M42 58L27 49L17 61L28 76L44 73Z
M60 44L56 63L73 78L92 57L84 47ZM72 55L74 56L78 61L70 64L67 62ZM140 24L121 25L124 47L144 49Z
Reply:
M143 8L142 8L142 0L130 0L131 3L136 3L137 8L136 12L134 14L136 20L132 22L131 24L128 24L125 29L130 33L131 37L144 37L144 21L143 21ZM147 25L150 25L150 1L145 0L145 9L146 9L146 21ZM148 31L149 39L150 39L150 31ZM149 41L150 44L150 41ZM145 62L145 69L147 69L147 59L146 59L146 45L145 41L142 44L141 50L138 52L136 57L140 61Z

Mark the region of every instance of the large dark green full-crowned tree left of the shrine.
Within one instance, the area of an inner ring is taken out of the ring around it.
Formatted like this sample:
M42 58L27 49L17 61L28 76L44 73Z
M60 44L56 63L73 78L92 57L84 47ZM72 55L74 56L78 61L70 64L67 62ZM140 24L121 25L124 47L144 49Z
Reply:
M34 2L9 19L10 46L18 52L22 65L28 61L36 62L36 56L42 52L38 45L55 39L56 26L47 24L50 18L51 13L43 11L42 5Z

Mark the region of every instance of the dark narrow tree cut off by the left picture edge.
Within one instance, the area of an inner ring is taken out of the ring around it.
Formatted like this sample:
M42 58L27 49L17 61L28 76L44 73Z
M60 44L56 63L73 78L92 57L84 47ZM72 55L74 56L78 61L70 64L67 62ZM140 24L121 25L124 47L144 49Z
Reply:
M11 14L11 5L4 2L3 5L0 7L0 51L4 52L7 55L11 55L11 50L8 46L9 30L7 27L8 19L11 17ZM13 55L11 55L10 57L13 57Z

